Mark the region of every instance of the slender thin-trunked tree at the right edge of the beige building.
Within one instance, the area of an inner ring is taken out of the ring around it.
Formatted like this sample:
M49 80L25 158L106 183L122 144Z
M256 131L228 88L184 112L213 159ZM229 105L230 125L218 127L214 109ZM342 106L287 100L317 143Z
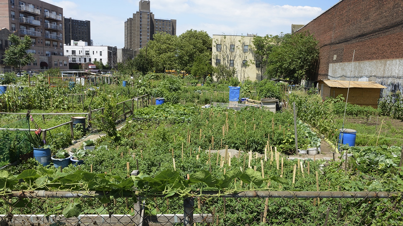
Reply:
M267 58L274 47L274 39L272 35L255 36L252 40L253 53L260 61L260 80L263 80L263 67L266 66Z

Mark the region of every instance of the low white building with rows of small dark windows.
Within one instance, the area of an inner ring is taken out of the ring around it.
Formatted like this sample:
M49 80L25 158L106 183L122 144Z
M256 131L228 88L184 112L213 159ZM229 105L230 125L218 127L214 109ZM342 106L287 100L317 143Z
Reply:
M71 40L71 45L64 44L64 55L69 57L70 64L85 64L94 61L116 66L117 48L107 45L88 45L86 41ZM112 60L113 59L113 60Z

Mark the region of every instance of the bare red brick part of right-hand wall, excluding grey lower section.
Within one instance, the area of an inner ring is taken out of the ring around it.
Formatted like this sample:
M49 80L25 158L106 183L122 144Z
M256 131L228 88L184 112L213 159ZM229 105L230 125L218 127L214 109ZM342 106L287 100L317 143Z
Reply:
M319 41L318 79L330 63L403 58L403 1L342 0L300 31Z

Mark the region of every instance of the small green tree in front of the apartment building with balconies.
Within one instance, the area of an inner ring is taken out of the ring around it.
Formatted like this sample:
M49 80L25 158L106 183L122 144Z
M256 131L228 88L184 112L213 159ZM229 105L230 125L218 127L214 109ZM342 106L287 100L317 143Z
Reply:
M33 53L27 52L31 49L31 38L25 35L24 39L20 39L17 35L11 34L8 40L10 45L4 53L4 64L14 66L18 68L18 72L21 72L24 66L35 60Z

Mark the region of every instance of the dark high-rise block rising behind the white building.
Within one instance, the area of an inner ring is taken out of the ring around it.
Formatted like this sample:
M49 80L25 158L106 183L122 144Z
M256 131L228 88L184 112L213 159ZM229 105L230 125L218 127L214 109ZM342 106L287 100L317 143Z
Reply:
M92 45L91 22L64 17L64 44L70 45L70 40L81 40Z

